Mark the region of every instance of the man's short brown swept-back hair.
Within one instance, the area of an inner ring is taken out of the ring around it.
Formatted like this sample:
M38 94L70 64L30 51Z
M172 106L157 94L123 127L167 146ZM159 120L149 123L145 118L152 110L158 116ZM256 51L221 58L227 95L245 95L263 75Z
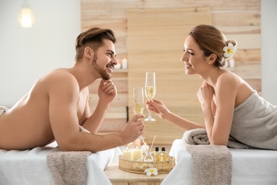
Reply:
M103 46L104 38L109 39L113 43L116 42L114 31L102 28L90 28L89 30L80 33L75 42L76 56L75 60L80 60L84 54L87 46L97 51L99 47Z

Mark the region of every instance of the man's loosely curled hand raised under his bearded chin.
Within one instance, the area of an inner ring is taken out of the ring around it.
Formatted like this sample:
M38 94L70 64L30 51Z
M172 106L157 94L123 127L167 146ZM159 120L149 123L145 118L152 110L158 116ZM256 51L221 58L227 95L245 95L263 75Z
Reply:
M109 105L117 95L116 86L112 83L112 80L102 79L99 83L98 96L101 102Z

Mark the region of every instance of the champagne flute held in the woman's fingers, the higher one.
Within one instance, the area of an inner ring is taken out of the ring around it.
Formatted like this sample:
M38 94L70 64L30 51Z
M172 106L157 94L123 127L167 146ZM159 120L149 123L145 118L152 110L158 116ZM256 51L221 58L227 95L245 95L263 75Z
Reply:
M146 80L145 80L145 94L148 100L152 100L156 94L156 79L155 72L146 72ZM148 117L144 121L156 121L151 116L151 111L148 110Z

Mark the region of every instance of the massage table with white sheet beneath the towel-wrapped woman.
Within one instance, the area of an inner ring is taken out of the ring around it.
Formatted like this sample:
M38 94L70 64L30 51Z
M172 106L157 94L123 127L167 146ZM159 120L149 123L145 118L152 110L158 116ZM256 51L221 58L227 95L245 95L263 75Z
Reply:
M232 184L234 185L276 185L277 151L266 149L232 149ZM176 165L162 185L193 184L192 157L182 139L176 139L170 149Z

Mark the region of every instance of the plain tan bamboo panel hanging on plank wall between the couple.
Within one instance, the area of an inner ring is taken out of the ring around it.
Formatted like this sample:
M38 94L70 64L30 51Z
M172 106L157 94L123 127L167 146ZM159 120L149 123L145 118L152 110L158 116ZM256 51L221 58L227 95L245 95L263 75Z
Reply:
M184 17L193 17L184 20ZM163 20L163 21L161 21ZM134 87L145 85L146 71L156 72L156 98L171 111L192 121L203 123L196 92L202 84L197 75L185 75L183 62L184 34L200 23L211 23L210 8L128 10L129 107ZM189 87L189 88L188 88ZM147 111L144 112L147 115ZM134 113L129 110L129 115ZM184 130L156 115L156 122L146 124L146 142L156 134L156 144L171 144ZM170 132L168 132L170 131Z

